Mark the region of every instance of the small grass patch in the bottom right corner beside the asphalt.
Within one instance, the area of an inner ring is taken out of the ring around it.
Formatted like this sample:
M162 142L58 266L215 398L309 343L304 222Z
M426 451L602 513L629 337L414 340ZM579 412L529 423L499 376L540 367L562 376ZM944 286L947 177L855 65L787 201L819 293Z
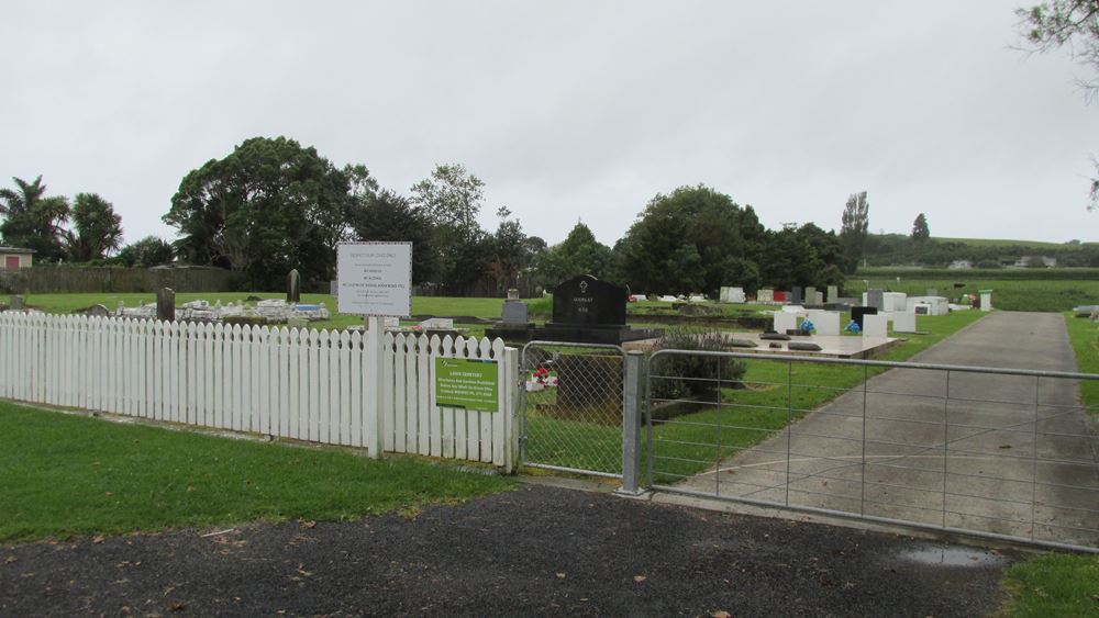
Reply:
M1099 617L1099 555L1048 553L1018 562L1001 586L1009 598L998 616Z

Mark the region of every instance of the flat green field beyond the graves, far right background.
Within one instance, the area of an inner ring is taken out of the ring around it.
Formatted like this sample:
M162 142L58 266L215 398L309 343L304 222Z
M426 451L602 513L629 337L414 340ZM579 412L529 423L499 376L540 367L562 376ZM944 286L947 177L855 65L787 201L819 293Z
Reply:
M996 279L995 274L980 277L973 271L958 270L954 274L926 278L918 270L896 277L873 273L855 274L847 280L846 294L862 297L867 288L880 288L909 295L922 296L928 289L939 291L941 296L957 299L963 293L976 294L978 290L992 290L992 306L1003 311L1063 312L1079 305L1099 304L1099 277L1094 279ZM1051 271L1052 272L1052 271ZM1099 273L1099 271L1097 271ZM1046 273L1048 274L1048 272ZM864 284L862 280L867 280ZM954 283L964 283L954 288Z

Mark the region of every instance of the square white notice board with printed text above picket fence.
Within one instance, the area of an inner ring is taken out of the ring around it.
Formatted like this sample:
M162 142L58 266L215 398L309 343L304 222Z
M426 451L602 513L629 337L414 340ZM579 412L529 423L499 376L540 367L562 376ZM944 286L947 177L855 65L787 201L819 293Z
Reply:
M340 313L412 315L412 243L340 243Z

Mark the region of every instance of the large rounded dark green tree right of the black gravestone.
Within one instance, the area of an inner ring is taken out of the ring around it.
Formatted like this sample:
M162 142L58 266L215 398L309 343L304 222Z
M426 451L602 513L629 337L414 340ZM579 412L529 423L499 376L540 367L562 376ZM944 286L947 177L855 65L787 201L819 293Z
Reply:
M634 290L704 291L722 285L753 289L765 231L752 206L740 206L709 187L657 194L618 245L621 274Z

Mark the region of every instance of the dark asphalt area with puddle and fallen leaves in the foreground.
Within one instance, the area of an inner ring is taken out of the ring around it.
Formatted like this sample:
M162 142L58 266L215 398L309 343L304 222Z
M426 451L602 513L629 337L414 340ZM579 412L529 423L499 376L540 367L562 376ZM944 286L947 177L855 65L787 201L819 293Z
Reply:
M1019 559L540 485L203 532L0 546L0 615L985 616Z

